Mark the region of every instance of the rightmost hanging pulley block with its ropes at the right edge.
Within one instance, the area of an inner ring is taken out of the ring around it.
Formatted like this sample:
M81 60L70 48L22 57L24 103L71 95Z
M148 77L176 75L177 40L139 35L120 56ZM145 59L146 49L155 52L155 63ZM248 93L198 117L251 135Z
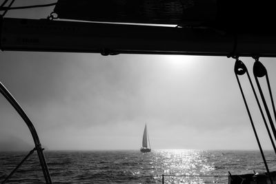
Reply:
M264 92L262 91L262 87L259 84L259 79L258 79L258 77L267 76L267 71L266 71L266 68L264 67L264 65L261 62L259 62L259 59L255 59L255 63L253 65L253 73L254 73L254 76L255 76L255 81L257 83L257 87L259 89L259 94L261 95L262 101L264 103L264 109L266 110L266 114L268 116L268 121L270 123L271 130L273 131L273 134L274 134L275 140L276 140L275 125L274 125L273 120L271 118L270 111L269 111L268 105L266 103L266 99L264 98ZM269 83L269 81L268 81L268 83ZM270 87L268 87L268 88L270 88ZM270 96L270 98L272 98L272 96ZM272 103L273 103L273 101L272 101Z

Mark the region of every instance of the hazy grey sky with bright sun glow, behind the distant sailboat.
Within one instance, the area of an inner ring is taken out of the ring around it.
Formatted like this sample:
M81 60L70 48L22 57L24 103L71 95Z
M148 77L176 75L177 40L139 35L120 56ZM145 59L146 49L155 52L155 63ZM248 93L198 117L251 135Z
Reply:
M14 10L6 17L50 12ZM254 60L241 59L253 76ZM275 94L275 59L260 61ZM226 57L1 51L0 81L46 150L139 150L146 123L152 150L257 150L234 64ZM241 81L262 145L271 150L248 80ZM0 150L30 150L28 127L3 96L0 116Z

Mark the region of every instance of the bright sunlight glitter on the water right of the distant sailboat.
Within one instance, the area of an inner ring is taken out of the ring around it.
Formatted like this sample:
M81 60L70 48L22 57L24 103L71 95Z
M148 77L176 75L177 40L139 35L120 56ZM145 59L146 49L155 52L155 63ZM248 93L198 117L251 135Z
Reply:
M165 176L164 180L166 183L213 183L217 181L217 178L213 177L204 179L193 177L193 175L210 175L215 170L215 166L208 162L203 151L156 150L152 154L152 157L157 159L155 162L156 170L158 170L157 165L161 165L161 170L159 170L161 174L175 175Z

